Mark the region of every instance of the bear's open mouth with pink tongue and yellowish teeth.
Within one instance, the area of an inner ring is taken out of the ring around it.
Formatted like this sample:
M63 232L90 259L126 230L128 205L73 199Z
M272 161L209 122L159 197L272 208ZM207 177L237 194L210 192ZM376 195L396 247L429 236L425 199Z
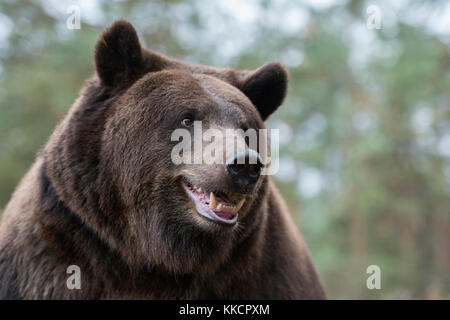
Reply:
M231 196L225 192L203 190L190 183L186 178L181 179L181 185L194 203L195 210L202 217L227 225L236 223L245 197L238 202L233 202Z

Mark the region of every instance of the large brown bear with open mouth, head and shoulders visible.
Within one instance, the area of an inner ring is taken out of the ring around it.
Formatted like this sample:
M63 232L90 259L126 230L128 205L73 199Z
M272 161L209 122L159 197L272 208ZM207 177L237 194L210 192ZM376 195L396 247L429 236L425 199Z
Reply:
M100 35L95 67L3 212L0 298L324 298L259 160L171 161L172 132L194 121L264 128L286 70L182 63L124 20Z

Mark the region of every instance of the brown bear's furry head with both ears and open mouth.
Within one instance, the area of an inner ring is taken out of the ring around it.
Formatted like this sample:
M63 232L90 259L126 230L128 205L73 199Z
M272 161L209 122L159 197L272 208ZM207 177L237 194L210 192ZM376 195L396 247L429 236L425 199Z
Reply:
M264 129L286 70L182 63L143 48L124 20L100 35L95 68L44 151L58 197L132 268L214 272L263 222L270 184L242 135L231 153L210 140L223 161L196 162L208 144L195 130ZM192 134L192 163L173 161L175 130Z

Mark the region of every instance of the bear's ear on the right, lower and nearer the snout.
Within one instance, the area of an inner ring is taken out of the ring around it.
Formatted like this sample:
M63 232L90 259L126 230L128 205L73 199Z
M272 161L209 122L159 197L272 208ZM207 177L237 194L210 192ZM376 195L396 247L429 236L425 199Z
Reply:
M269 62L245 74L240 82L240 89L265 121L283 102L287 82L286 69L279 63Z

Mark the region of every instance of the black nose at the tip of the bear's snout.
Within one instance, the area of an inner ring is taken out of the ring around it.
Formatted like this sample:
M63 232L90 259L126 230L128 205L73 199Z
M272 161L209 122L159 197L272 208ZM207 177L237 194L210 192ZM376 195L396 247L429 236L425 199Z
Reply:
M233 183L240 187L255 183L263 167L261 157L251 149L234 153L228 157L225 165Z

